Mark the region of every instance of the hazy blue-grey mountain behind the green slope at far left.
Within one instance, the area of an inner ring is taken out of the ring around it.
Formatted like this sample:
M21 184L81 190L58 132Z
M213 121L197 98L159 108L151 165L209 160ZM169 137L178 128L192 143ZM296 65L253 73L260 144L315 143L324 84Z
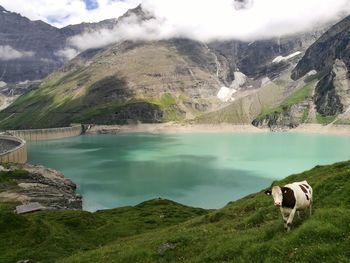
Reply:
M65 48L68 37L85 30L111 28L115 22L110 19L58 29L0 6L0 81L16 83L46 77L66 62L57 52Z

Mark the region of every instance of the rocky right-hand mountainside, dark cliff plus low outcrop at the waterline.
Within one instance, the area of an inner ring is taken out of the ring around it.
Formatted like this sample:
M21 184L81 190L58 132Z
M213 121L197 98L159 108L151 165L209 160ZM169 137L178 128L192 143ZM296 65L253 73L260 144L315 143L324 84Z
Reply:
M256 118L256 126L293 128L304 121L349 123L350 112L350 16L312 44L292 71L292 79L316 80L307 110L296 103L283 111ZM306 104L306 101L303 102ZM310 115L310 116L309 116ZM308 116L308 117L306 117Z

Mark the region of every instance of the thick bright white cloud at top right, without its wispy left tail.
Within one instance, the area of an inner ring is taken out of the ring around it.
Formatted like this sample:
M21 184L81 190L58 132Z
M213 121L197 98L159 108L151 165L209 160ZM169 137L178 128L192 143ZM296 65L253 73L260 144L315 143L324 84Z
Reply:
M334 19L340 11L350 12L349 0L245 2L245 9L237 8L233 0L144 0L143 7L157 17L161 36L180 35L203 41L286 35Z

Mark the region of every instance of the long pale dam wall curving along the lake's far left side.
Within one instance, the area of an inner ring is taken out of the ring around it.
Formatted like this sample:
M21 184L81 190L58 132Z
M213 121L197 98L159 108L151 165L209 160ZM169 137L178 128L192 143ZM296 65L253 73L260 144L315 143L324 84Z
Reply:
M12 134L13 136L22 138L26 141L42 141L79 136L83 133L83 126L77 124L72 125L70 127L31 130L10 130L7 132Z

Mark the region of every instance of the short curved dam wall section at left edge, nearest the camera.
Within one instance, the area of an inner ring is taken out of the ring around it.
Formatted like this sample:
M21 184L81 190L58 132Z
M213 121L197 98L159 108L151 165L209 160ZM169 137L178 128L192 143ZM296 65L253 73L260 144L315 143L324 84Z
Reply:
M24 140L13 136L0 135L0 144L6 144L9 148L0 153L0 163L22 164L27 162L27 145Z

